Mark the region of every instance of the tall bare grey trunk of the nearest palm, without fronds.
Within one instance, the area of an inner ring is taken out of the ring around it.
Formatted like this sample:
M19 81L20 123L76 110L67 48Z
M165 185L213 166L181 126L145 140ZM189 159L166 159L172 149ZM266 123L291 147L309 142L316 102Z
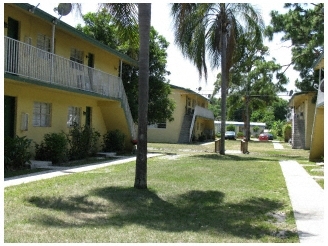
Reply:
M138 98L138 150L134 187L147 189L147 113L149 91L149 38L151 4L138 4L139 21L139 98Z

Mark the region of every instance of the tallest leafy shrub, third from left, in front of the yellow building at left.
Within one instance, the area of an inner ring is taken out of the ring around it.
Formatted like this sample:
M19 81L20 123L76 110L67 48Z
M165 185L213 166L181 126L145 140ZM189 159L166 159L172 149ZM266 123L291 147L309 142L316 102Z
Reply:
M96 155L100 133L93 128L89 126L80 127L74 123L66 136L70 147L70 160L81 160Z

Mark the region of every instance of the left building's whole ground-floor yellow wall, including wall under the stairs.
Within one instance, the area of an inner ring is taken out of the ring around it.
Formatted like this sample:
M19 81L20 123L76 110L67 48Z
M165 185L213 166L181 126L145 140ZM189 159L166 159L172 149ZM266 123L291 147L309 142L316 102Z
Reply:
M81 108L81 124L85 125L86 116L83 111L91 107L91 126L101 135L107 131L119 129L126 135L126 145L130 144L130 132L126 122L124 110L120 102L100 99L79 93L65 92L48 87L40 87L29 83L15 82L5 79L4 94L16 98L15 134L32 139L36 143L43 140L46 133L69 132L67 126L68 107ZM34 102L51 104L51 126L33 126ZM28 130L21 130L22 113L28 114ZM99 139L102 141L102 137Z

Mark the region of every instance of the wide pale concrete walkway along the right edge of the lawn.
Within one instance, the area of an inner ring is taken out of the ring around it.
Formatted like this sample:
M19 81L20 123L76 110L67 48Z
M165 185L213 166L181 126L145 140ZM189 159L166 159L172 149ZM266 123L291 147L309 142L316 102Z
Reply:
M301 243L324 244L324 190L296 161L281 161Z

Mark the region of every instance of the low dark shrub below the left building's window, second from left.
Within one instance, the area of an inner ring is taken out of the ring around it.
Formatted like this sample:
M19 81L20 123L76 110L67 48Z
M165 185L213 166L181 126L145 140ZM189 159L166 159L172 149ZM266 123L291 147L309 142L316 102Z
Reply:
M68 141L64 133L47 133L41 144L35 143L35 159L53 164L68 160Z

